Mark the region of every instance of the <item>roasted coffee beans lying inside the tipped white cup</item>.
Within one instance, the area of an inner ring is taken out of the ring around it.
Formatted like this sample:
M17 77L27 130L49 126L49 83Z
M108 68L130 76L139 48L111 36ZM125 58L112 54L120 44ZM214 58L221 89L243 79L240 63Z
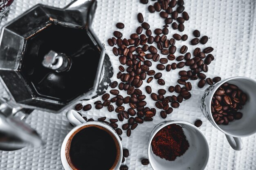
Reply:
M241 119L239 112L247 102L247 95L234 84L224 83L214 93L211 114L216 124L228 125L234 119Z

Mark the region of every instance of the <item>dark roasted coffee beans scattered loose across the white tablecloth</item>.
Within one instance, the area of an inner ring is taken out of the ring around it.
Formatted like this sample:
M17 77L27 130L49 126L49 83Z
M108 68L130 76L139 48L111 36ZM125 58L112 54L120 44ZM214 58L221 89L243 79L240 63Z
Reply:
M148 4L148 0L140 0L140 2ZM174 11L176 5L178 7ZM173 112L173 108L178 108L184 100L191 98L192 85L189 81L198 79L199 88L203 88L206 83L211 85L220 81L220 77L211 79L204 74L214 60L211 46L202 49L199 46L208 42L209 38L206 35L201 37L200 31L193 32L194 38L191 40L191 44L195 46L194 49L189 49L188 46L182 44L188 40L188 34L178 32L167 37L169 25L172 29L180 32L185 30L184 22L189 20L189 14L184 11L183 0L157 0L153 5L148 6L148 11L150 13L159 12L160 17L165 19L163 28L152 29L150 24L144 20L142 13L138 13L139 25L132 30L135 32L130 33L128 38L124 38L120 31L125 28L125 25L118 22L116 24L118 30L114 31L114 36L108 39L108 45L113 47L112 52L120 62L117 73L117 79L120 82L112 82L110 84L112 90L104 94L101 98L102 101L99 100L94 105L96 109L107 107L109 112L117 113L117 119L110 119L110 122L104 118L99 120L108 122L116 130L120 139L122 139L120 135L123 130L126 130L126 135L130 137L132 130L139 124L153 121L157 113L156 108L161 110L159 115L165 119ZM174 20L175 22L173 22ZM179 45L181 48L177 49L176 46ZM155 68L152 68L153 62L157 63ZM164 89L165 78L170 77L163 77L161 72L170 72L184 67L189 70L181 70L178 73L177 83L170 84L167 89ZM153 92L150 87L150 82L153 81L159 84L157 92ZM148 84L145 90L139 89L145 83ZM120 95L120 91L125 91L127 95ZM146 106L145 91L155 101L156 108ZM174 92L176 94L171 94ZM117 105L116 108L113 106L114 103ZM128 107L125 107L125 104L126 106L128 104ZM75 109L87 111L91 107L78 104ZM118 127L117 121L123 122L121 127ZM122 166L123 170L126 168L128 169L127 166Z

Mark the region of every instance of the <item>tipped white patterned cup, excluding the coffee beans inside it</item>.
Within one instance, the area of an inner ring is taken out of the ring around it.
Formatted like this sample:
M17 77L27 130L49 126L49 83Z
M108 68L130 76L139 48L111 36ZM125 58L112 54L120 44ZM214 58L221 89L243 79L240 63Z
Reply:
M234 120L228 125L217 125L211 114L211 99L216 90L225 82L235 84L247 94L248 100L243 106L241 112L243 117ZM218 83L209 86L202 96L200 108L204 116L221 132L225 133L230 146L234 150L243 149L243 141L241 137L252 135L256 132L256 81L248 77L231 77L223 79Z

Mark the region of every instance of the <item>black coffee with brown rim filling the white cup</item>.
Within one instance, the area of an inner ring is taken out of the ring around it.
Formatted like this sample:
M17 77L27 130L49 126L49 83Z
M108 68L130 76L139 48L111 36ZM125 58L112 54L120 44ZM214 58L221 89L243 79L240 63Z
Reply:
M115 136L97 125L83 126L70 137L66 157L74 170L112 170L119 160Z

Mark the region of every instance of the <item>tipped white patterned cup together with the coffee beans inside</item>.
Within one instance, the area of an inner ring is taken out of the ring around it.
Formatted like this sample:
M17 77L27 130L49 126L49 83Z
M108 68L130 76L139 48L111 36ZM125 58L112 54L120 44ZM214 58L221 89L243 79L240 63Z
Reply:
M256 132L256 81L249 77L231 77L209 86L202 95L204 116L225 133L234 150L243 149L241 137Z

